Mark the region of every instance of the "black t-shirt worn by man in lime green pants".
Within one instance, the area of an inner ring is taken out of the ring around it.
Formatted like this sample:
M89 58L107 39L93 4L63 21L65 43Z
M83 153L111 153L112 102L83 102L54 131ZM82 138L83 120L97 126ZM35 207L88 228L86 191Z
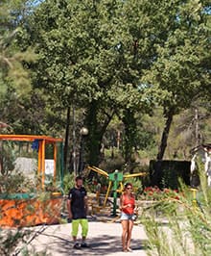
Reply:
M68 199L71 200L71 212L73 219L86 218L84 197L86 196L86 191L82 187L80 189L73 188L68 193Z

